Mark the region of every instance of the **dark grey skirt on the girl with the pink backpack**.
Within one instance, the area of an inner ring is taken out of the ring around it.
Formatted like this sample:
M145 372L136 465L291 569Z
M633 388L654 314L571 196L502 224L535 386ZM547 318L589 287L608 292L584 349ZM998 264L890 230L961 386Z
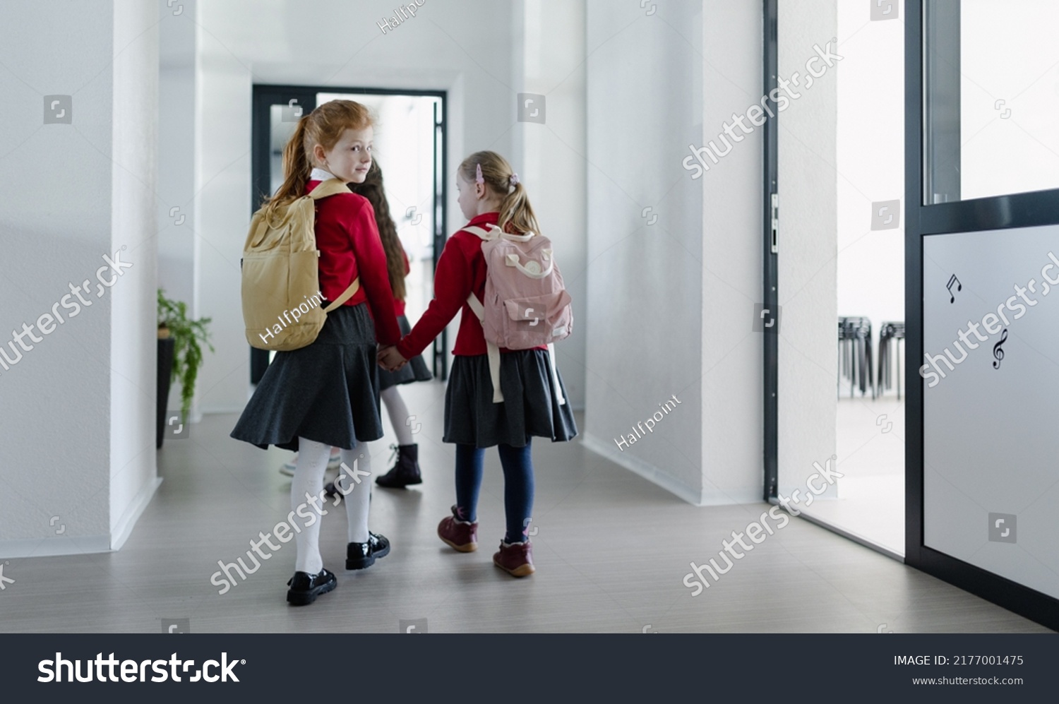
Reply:
M548 437L553 443L573 439L577 423L561 374L559 387L567 399L563 405L554 393L548 350L504 353L500 356L504 401L493 403L488 355L456 356L445 391L443 439L479 448L501 444L522 448L531 437Z

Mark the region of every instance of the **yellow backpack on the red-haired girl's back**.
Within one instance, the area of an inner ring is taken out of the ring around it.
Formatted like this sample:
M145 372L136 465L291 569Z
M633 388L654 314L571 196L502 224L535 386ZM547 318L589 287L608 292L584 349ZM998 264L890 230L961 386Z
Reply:
M262 207L251 218L241 260L243 321L251 347L289 351L312 344L327 313L360 288L358 276L329 306L320 307L316 201L339 193L351 191L341 180L328 179L271 216Z

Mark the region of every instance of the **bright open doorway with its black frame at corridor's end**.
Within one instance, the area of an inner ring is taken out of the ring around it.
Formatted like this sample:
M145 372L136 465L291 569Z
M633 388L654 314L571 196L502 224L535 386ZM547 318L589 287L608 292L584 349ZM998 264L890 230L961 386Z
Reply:
M373 155L385 175L387 200L412 271L406 278L408 317L416 320L430 303L437 257L445 246L445 92L336 89L311 86L254 86L253 200L283 183L283 149L298 120L333 100L356 101L378 119ZM434 341L433 373L447 378L448 335ZM263 349L250 350L252 384L271 361Z

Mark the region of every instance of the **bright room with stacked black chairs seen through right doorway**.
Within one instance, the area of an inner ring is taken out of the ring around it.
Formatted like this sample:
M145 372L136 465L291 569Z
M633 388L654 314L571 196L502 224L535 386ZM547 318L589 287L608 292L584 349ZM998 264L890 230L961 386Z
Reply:
M885 4L885 3L884 3ZM807 512L904 555L904 35L837 3L838 497ZM891 15L900 15L895 1Z

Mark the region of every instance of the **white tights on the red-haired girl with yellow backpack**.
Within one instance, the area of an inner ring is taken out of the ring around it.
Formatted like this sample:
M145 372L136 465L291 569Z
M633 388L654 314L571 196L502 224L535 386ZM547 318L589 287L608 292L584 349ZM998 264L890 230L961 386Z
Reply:
M323 497L324 472L330 457L330 446L304 437L298 438L298 459L290 482L290 508L301 531L294 531L294 570L319 574L324 562L320 556L320 522L322 516L337 503L345 504L351 543L367 542L367 506L371 500L372 452L370 444L360 443L354 450L342 450L343 467L335 487L340 497ZM369 474L365 474L367 472ZM308 494L308 495L306 495ZM301 513L299 513L301 509ZM308 517L308 518L306 518Z

